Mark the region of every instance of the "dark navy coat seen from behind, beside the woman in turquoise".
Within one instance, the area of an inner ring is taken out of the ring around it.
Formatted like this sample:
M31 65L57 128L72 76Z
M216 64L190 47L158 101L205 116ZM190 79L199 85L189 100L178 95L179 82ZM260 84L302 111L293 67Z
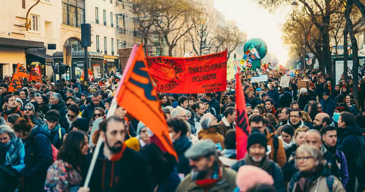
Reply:
M28 138L23 140L25 147L24 184L31 191L44 191L47 169L52 165L53 159L49 139L49 131L35 125Z

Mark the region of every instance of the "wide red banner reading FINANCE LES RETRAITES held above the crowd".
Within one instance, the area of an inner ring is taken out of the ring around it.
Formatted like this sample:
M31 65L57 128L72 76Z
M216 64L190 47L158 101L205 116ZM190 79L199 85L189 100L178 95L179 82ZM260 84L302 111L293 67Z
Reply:
M148 57L154 89L164 93L226 90L227 51L199 57Z

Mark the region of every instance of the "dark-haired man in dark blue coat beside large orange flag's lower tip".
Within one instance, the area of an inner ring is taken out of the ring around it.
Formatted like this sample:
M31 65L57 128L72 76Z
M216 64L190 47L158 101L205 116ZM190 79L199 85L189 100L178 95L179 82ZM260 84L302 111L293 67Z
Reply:
M184 153L192 146L192 142L187 136L187 124L179 118L170 118L167 120L167 125L170 139L178 157L177 172L185 176L190 173L191 167Z

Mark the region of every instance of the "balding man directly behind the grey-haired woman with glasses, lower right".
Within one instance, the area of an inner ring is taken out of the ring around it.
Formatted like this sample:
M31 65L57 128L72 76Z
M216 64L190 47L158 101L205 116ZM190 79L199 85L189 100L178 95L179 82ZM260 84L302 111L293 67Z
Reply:
M311 129L309 131L306 132L306 135L304 135L304 144L306 145L310 145L314 148L317 148L321 151L323 158L326 159L327 161L327 165L331 170L331 173L337 177L339 177L339 169L338 169L338 165L337 165L337 160L336 158L333 156L333 154L331 154L326 147L323 146L322 140L321 140L321 135L320 132L315 130L315 129Z

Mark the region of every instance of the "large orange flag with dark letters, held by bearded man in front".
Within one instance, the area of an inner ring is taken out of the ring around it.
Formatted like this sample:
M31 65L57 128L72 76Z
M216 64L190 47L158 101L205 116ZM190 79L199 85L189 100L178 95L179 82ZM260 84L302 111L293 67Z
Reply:
M120 80L116 102L142 121L160 140L166 151L177 158L157 93L148 73L142 45L134 45Z

